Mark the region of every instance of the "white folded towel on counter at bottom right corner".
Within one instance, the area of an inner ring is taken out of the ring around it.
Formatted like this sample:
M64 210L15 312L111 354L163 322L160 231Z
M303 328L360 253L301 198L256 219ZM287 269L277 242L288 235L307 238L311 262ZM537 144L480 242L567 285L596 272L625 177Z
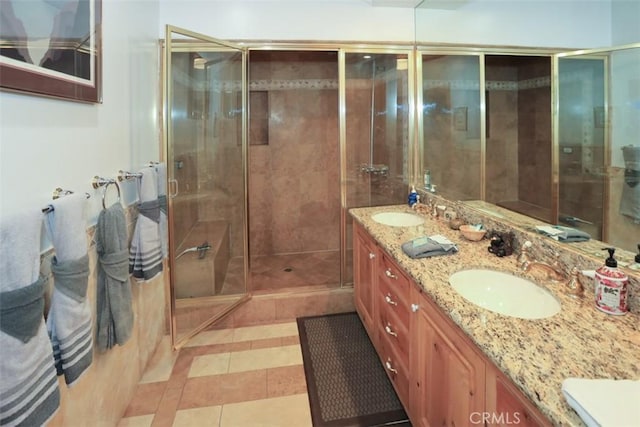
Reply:
M640 422L640 381L567 378L562 393L589 427L632 427Z

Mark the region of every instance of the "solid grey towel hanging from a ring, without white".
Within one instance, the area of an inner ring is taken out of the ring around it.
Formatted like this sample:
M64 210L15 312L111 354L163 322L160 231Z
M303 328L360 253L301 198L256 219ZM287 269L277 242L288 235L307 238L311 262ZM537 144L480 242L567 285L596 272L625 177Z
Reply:
M98 215L96 250L96 345L100 350L107 350L127 342L133 328L127 226L120 203L103 209Z

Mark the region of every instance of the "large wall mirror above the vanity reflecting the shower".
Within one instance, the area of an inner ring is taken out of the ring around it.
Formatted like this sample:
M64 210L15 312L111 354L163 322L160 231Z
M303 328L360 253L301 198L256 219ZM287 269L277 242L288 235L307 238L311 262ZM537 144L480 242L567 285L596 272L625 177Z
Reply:
M418 46L420 163L437 193L640 244L640 43ZM477 201L481 201L478 203ZM495 208L495 209L493 209Z

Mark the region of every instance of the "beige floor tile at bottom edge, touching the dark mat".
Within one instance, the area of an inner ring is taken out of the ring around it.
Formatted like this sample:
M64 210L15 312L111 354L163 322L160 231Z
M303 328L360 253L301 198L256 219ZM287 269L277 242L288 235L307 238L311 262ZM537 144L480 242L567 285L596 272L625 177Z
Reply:
M222 407L220 427L311 427L306 394L231 403Z

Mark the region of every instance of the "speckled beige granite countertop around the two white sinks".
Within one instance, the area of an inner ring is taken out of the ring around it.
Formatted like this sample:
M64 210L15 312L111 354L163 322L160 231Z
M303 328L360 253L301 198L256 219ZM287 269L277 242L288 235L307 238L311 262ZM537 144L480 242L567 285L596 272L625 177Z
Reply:
M391 227L371 219L390 211L415 213L406 205L354 208L350 213L554 425L584 425L562 394L565 378L640 380L640 316L608 315L595 308L588 293L574 299L564 293L564 283L523 275L515 255L498 258L487 251L488 240L467 241L444 221L425 215L423 226ZM402 252L402 243L433 234L448 237L459 252L419 260ZM547 288L562 309L550 318L525 320L480 308L448 284L451 274L469 268L532 279Z

